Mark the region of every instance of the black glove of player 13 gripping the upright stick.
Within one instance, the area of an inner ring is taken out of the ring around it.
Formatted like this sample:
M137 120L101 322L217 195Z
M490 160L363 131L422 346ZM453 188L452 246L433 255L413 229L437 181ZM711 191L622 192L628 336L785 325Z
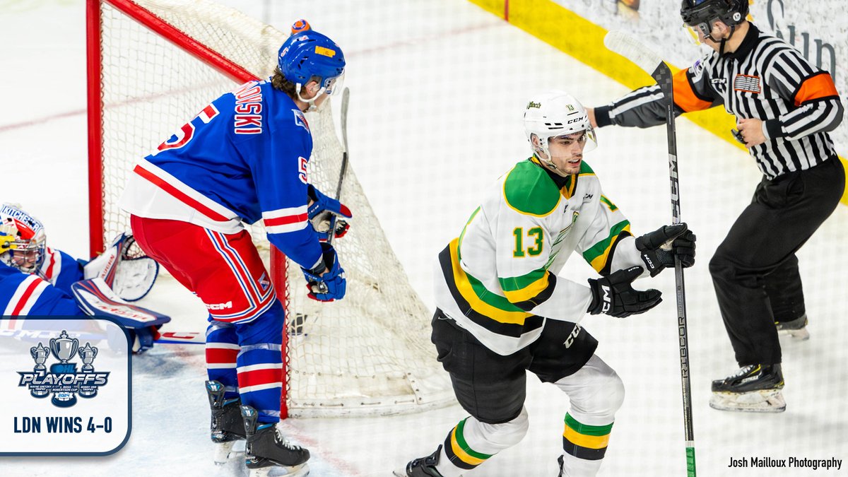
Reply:
M695 233L685 223L666 225L636 239L636 249L642 253L644 266L651 277L666 267L674 267L674 255L683 268L695 264Z

